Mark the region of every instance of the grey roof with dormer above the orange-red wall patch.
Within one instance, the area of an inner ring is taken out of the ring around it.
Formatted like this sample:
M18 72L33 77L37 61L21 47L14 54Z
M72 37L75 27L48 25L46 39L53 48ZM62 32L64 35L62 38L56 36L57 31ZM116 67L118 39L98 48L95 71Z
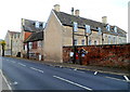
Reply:
M34 32L34 31L42 31L43 30L43 27L42 27L43 22L39 22L39 28L36 28L35 23L37 21L30 21L30 19L25 19L25 18L22 18L22 19L24 19L24 21L22 21L22 22L24 22L23 23L24 25L22 25L24 31L31 31L31 32Z

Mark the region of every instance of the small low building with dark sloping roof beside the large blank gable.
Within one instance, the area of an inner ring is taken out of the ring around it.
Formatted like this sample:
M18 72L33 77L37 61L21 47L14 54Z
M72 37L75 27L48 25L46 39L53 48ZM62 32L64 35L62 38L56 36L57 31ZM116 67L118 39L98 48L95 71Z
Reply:
M43 31L32 32L24 43L28 47L29 58L43 60Z

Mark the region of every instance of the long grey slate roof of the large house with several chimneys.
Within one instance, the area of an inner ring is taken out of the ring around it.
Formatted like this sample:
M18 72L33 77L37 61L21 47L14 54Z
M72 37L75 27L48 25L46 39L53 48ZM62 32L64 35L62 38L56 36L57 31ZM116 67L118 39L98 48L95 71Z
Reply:
M76 15L70 15L70 14L67 14L64 12L57 12L55 10L53 10L53 11L64 26L73 26L73 22L76 22L76 23L78 23L79 28L84 28L84 25L90 25L91 29L98 30L98 27L101 27L101 29L104 34L119 35L119 36L126 37L127 32L117 26L116 26L117 32L114 31L115 26L112 26L112 25L110 25L110 31L108 31L106 29L106 26L108 24L104 24L101 22L92 21L89 18L76 16Z

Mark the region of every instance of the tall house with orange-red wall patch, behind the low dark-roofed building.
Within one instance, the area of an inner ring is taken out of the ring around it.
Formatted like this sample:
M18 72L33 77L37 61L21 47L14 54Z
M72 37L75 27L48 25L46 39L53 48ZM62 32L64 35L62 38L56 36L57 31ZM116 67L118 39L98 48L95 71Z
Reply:
M35 35L35 32L43 31L44 26L46 26L46 23L43 23L43 22L22 18L22 34L21 34L21 44L22 44L21 45L21 53L22 53L22 57L27 56L27 43L25 43L25 41L31 35ZM31 42L30 42L30 44L31 44Z

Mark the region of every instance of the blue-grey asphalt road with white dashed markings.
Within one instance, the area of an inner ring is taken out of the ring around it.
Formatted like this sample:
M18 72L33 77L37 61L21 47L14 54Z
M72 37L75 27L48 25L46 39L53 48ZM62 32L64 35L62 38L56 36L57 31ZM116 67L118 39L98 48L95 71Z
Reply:
M27 60L0 58L2 71L13 90L130 90L130 82L126 79L101 76L96 71L54 67Z

